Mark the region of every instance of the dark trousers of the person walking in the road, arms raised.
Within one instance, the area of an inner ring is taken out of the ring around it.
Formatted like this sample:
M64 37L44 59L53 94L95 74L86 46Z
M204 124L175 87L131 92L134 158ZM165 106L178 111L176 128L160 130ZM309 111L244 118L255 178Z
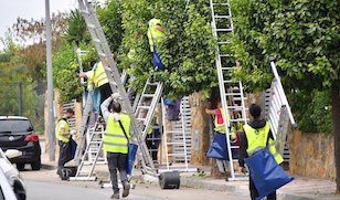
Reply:
M125 185L128 181L126 172L127 154L107 152L107 162L114 193L118 193L119 188L117 180L117 169L119 170L121 183Z

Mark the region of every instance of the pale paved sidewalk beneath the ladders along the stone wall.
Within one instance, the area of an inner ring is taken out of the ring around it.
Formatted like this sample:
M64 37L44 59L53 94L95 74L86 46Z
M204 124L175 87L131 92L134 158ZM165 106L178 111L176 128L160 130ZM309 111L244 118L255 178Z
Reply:
M57 158L56 158L57 160ZM45 169L56 169L56 161L49 161L49 155L42 154L42 164ZM95 168L98 181L107 181L109 173L107 166L98 165ZM314 179L306 177L295 177L296 179L277 191L279 200L340 200L336 196L336 182L325 179ZM158 185L156 178L142 179L140 170L134 171L134 178L138 181L146 181ZM181 187L223 190L234 194L248 196L248 181L225 181L224 179L213 179L210 177L199 177L196 173L181 173Z

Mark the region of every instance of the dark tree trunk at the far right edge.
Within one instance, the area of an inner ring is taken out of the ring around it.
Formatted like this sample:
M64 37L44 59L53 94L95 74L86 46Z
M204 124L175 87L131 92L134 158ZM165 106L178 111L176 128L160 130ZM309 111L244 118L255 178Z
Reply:
M336 182L337 194L340 194L340 93L338 87L331 91L332 120L334 134Z

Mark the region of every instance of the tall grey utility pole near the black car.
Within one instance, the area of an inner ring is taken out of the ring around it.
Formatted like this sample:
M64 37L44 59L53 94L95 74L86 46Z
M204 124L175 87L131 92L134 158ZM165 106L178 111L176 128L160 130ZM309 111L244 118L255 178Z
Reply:
M52 42L51 42L51 19L50 19L50 0L45 0L46 11L46 63L47 63L47 99L49 99L49 158L55 160L55 141L54 141L54 114L53 114L53 71L52 71Z

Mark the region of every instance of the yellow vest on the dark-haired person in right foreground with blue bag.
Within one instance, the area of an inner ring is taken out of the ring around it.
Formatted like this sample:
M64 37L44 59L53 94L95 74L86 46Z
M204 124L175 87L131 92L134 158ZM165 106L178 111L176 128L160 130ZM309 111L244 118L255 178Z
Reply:
M267 122L263 128L255 129L249 125L244 125L244 131L248 141L247 154L252 156L254 152L264 149L267 146L267 138L269 134L270 127ZM268 149L270 154L274 156L277 164L281 164L284 161L281 155L277 152L275 147L275 141L269 138Z

